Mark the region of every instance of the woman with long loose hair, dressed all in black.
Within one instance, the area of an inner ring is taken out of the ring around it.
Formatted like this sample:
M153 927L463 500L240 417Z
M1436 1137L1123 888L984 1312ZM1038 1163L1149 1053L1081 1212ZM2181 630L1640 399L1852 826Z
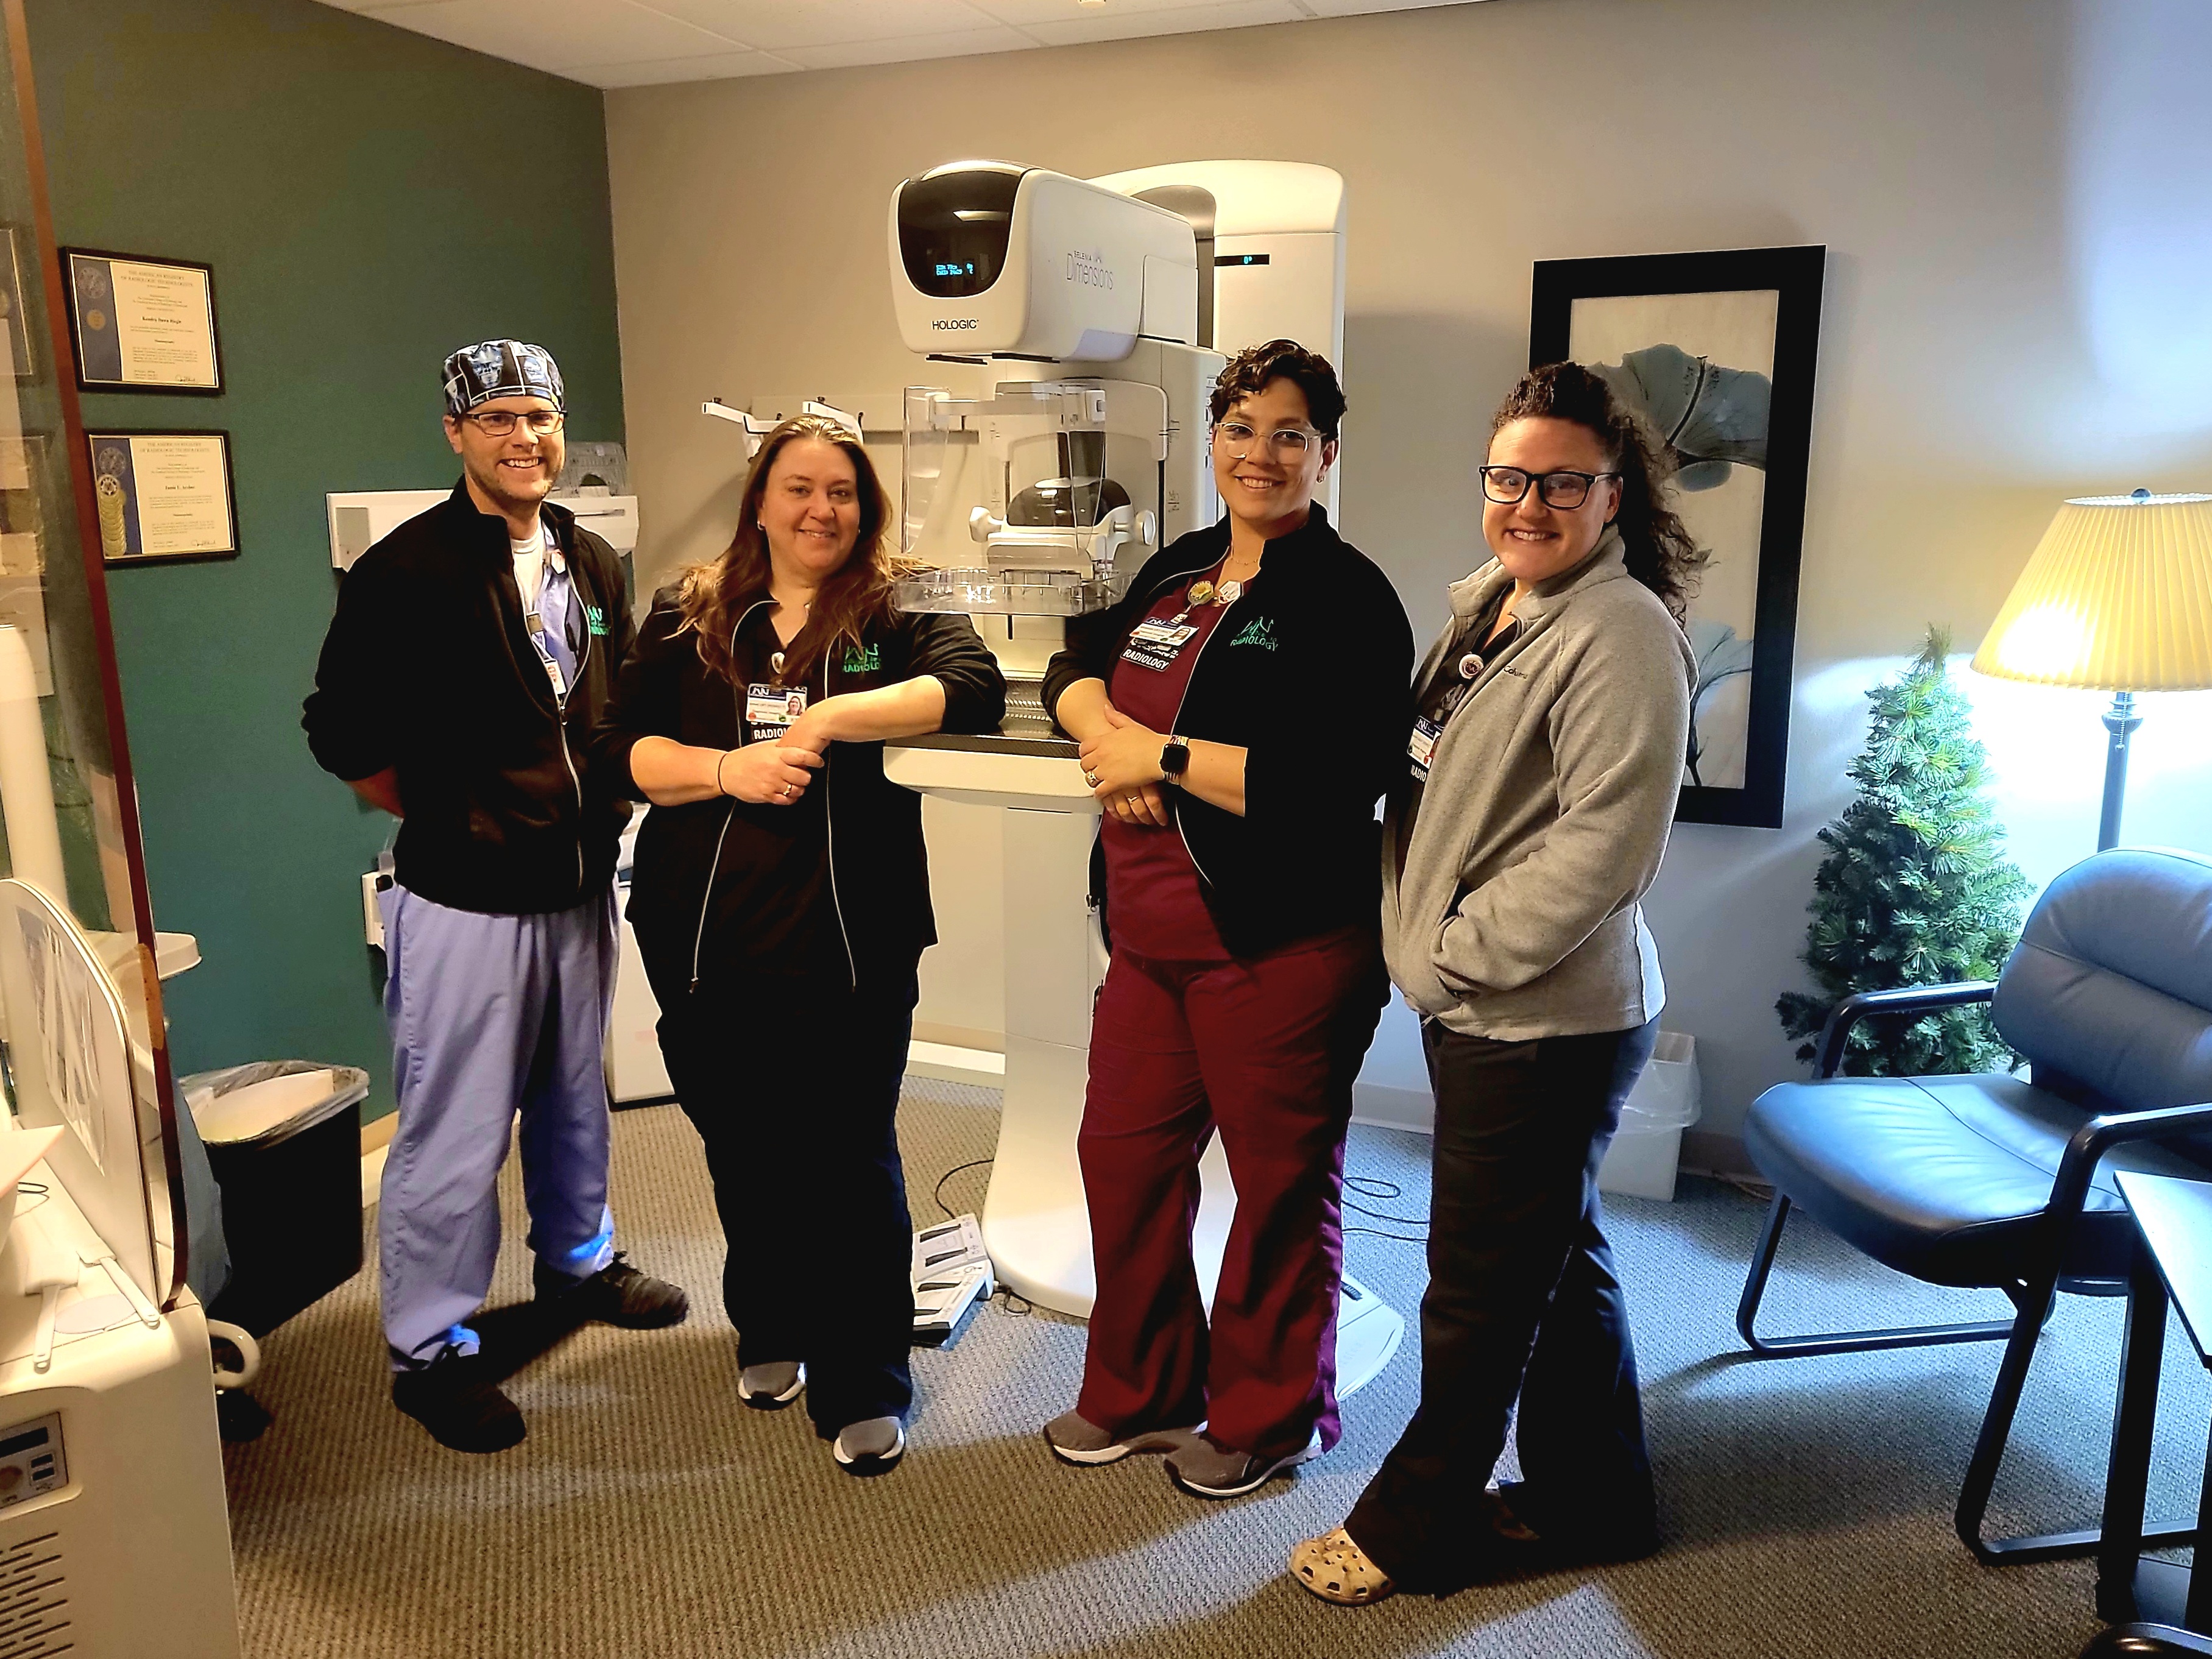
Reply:
M922 803L883 776L883 741L993 730L1006 708L967 617L894 608L889 529L856 436L779 425L728 551L655 595L595 730L653 803L628 918L714 1179L737 1394L805 1391L856 1475L907 1444L894 1115L936 942Z

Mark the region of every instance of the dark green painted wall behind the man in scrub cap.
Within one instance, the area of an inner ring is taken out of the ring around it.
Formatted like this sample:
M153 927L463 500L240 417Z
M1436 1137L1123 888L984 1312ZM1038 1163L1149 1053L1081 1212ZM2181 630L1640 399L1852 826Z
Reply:
M520 7L518 7L520 11ZM361 883L392 821L316 770L323 495L445 487L438 365L540 341L571 438L622 438L599 93L314 0L29 0L64 246L215 268L223 396L86 425L230 431L241 555L108 573L179 1071L365 1064L392 1106Z

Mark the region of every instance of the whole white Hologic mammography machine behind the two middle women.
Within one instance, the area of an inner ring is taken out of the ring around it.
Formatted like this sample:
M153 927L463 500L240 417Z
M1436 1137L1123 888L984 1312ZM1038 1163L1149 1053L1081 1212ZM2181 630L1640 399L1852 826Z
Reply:
M1270 192L1279 221L1305 228L1285 234L1318 239L1292 250L1305 259L1221 254L1217 230L1267 223ZM1272 161L1093 181L956 161L891 195L889 254L900 334L942 378L907 392L902 546L920 568L900 604L978 619L1009 670L1009 714L998 734L891 743L885 774L1009 810L1006 1082L982 1239L1006 1285L1082 1316L1095 1281L1075 1133L1106 967L1086 902L1097 803L1037 677L1066 617L1110 606L1157 546L1219 515L1206 451L1217 343L1338 345L1343 181ZM1223 270L1256 285L1232 296ZM1283 294L1272 310L1270 281ZM1219 1139L1201 1177L1194 1252L1210 1298L1234 1210ZM1338 1391L1383 1369L1402 1334L1347 1279Z

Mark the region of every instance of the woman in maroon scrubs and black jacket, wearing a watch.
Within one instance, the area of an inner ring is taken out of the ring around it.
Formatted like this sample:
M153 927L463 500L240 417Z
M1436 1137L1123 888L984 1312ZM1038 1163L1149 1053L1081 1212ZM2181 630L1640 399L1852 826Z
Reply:
M1232 358L1225 515L1071 624L1044 677L1106 812L1113 940L1077 1141L1097 1303L1082 1396L1044 1438L1075 1464L1166 1451L1197 1498L1338 1438L1345 1124L1387 993L1374 805L1413 668L1389 577L1314 502L1343 414L1327 358ZM1208 1325L1190 1228L1217 1130L1237 1219Z

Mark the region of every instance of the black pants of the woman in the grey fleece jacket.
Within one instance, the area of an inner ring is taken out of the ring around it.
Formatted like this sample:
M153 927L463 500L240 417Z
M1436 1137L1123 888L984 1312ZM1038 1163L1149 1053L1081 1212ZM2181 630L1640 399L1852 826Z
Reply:
M1657 1535L1628 1303L1597 1166L1659 1022L1495 1042L1420 1026L1436 1088L1420 1409L1345 1531L1407 1590L1482 1573L1482 1489L1506 1444L1515 1513L1546 1542L1641 1553Z

